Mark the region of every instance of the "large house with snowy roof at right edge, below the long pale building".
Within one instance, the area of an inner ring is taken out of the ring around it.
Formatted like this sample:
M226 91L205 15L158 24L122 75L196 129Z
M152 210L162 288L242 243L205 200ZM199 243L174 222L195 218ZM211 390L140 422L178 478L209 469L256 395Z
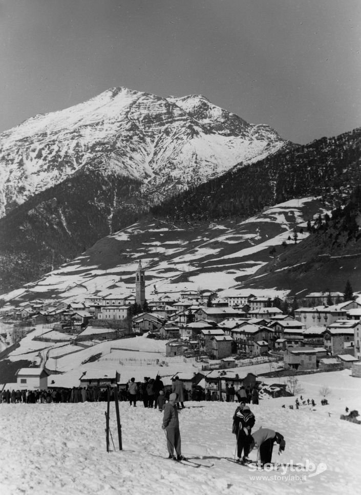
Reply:
M361 329L361 320L337 320L324 332L324 346L332 356L354 354L355 330Z

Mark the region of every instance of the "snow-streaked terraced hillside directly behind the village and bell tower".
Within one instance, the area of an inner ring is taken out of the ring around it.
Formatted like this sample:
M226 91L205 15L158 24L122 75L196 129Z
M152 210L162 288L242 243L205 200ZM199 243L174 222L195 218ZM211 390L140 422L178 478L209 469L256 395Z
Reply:
M324 208L316 198L304 198L271 207L244 222L197 229L155 219L142 221L105 237L71 263L1 298L72 300L90 294L129 294L134 291L139 260L145 268L148 299L155 289L162 293L241 287L272 259L273 246L282 249L283 242L292 242L288 239L295 227L303 229L299 241L306 238L307 219L324 214Z

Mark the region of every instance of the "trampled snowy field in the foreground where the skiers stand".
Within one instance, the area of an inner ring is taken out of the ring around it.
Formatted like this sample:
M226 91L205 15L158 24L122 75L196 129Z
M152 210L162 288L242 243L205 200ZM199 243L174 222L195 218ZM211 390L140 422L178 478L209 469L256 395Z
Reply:
M235 436L231 433L234 403L187 402L188 407L180 412L183 455L212 467L163 459L167 449L162 413L145 409L140 402L136 408L119 403L121 451L115 405L111 403L115 449L111 441L109 453L105 447L104 402L0 404L1 493L356 495L361 484L361 425L342 421L339 415L346 405L360 410L361 379L352 378L345 370L308 375L300 381L303 396L315 399L314 408L291 410L287 404L294 403L294 397L251 405L256 416L253 431L271 427L285 436L285 452L278 456L275 447L272 461L293 462L293 467L280 465L277 471L269 472L251 471L226 459L235 456ZM331 390L329 406L318 405L322 385ZM257 451L250 457L256 459Z

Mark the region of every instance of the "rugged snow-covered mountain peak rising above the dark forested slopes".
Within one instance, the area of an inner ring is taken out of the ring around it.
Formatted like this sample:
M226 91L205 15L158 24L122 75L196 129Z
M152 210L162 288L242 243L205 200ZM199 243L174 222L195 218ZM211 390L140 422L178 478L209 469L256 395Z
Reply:
M154 204L287 144L201 95L112 88L0 134L0 217L80 170L140 180Z

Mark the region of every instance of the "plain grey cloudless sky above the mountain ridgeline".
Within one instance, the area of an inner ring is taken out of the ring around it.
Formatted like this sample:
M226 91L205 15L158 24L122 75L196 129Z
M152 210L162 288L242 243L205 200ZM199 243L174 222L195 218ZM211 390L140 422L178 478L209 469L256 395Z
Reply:
M0 132L108 88L307 143L361 126L360 0L0 0Z

